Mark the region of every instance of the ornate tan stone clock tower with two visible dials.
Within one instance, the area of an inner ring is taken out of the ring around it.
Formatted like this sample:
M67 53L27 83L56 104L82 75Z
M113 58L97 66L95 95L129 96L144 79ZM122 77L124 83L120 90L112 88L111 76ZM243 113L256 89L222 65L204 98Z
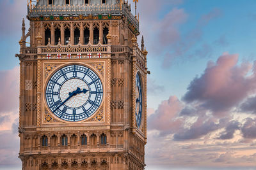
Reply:
M27 18L16 55L22 169L144 169L147 51L131 5L37 0Z

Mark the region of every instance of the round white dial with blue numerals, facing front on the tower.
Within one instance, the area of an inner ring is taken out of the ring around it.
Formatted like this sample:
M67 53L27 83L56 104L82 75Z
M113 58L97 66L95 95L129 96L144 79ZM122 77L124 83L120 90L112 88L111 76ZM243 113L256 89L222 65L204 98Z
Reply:
M103 97L102 82L88 67L66 66L51 76L45 97L54 115L70 122L81 121L99 108Z

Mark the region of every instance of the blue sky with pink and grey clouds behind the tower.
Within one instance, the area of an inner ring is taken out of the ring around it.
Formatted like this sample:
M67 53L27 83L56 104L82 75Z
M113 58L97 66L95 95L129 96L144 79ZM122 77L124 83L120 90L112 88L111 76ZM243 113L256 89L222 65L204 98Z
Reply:
M138 43L143 35L151 72L145 169L256 168L255 7L255 0L139 0ZM20 169L22 18L26 0L0 1L0 169Z

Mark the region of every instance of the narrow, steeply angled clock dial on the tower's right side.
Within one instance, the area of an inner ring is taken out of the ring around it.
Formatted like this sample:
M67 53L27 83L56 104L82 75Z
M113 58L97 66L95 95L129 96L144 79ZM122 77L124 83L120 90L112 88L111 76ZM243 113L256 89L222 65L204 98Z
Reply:
M135 108L135 117L137 127L141 125L141 117L142 117L142 94L141 94L141 80L140 74L136 75L136 108Z

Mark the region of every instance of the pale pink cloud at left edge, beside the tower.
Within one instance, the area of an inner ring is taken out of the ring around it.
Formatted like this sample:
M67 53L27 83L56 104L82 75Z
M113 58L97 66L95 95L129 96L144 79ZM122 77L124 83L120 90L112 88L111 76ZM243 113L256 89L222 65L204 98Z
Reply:
M0 114L19 107L19 67L0 71Z

